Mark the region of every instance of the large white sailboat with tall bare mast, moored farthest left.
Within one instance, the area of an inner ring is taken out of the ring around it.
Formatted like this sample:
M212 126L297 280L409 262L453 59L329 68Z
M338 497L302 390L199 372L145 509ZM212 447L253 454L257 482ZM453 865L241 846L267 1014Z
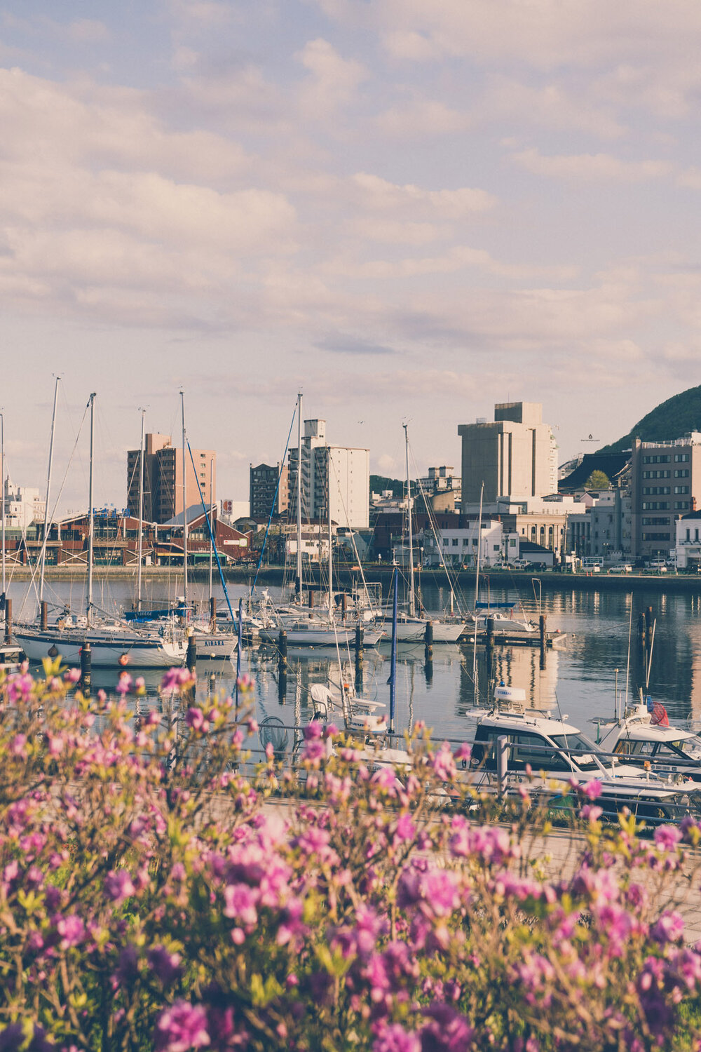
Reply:
M186 655L186 646L182 639L178 638L171 625L164 625L158 631L146 633L135 632L133 629L125 628L119 622L110 624L102 622L99 625L95 623L95 604L92 602L95 399L96 394L92 392L87 403L87 408L90 411L90 468L85 615L82 618L65 615L60 618L56 625L49 626L46 604L42 601L40 624L38 626L18 624L14 634L32 662L40 662L46 656L57 658L60 654L68 664L76 664L80 661L83 646L89 644L91 664L97 668L169 668L172 665L182 665ZM56 403L54 408L56 412ZM51 447L53 437L54 426L51 426ZM44 550L45 544L46 531L44 533ZM41 594L43 595L43 559Z

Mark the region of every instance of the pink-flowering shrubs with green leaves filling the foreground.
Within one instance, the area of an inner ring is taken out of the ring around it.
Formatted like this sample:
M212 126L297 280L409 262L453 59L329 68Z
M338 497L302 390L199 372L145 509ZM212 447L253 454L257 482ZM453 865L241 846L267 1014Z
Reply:
M549 877L528 795L474 817L465 750L393 770L316 724L302 777L247 778L231 700L122 686L0 684L0 1049L699 1047L693 821L641 839L582 792Z

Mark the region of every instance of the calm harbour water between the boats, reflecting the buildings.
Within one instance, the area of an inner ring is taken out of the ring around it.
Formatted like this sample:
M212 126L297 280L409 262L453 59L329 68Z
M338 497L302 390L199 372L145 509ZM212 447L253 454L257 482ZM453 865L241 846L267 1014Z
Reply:
M182 582L173 571L172 581L162 579L147 582L145 593L156 605L167 604L182 590ZM274 595L276 589L271 588ZM115 613L131 605L133 585L128 581L100 583L96 601L106 612ZM193 585L193 598L206 605L206 586ZM215 589L220 609L224 608L223 592ZM246 595L244 585L231 584L229 595L236 606L240 595ZM522 609L536 616L539 611L530 579L515 588L492 587L492 599L516 602ZM16 620L33 616L37 601L27 593L27 585L13 583L9 595L14 601ZM424 602L428 609L439 609L447 592L424 582ZM482 596L483 598L483 596ZM468 590L463 602L472 605L473 591ZM75 611L83 607L83 586L79 582L50 584L50 600L58 605L67 603ZM636 627L641 611L653 607L657 619L653 663L648 692L661 701L671 717L701 720L701 599L692 595L659 595L635 592L578 592L562 589L542 594L542 612L548 618L549 630L560 629L568 633L562 649L549 650L544 668L540 667L537 647L494 648L493 680L509 686L523 687L527 696L537 707L552 707L555 712L568 713L571 721L589 733L594 728L587 722L596 716L609 716L614 708L616 672L618 685L625 692L625 672L628 652L628 623L633 615L631 642L628 696L644 688L644 669L636 640ZM363 669L364 696L389 703L389 646L365 651ZM342 654L345 675L352 675L352 653ZM290 649L288 653L287 683L280 690L277 660L273 650L247 650L242 659L242 669L255 679L259 720L266 715L277 716L285 724L306 722L312 707L309 688L314 683L326 683L333 665L337 670L335 649ZM217 677L217 686L231 690L235 668L200 662L198 666L199 690L206 691L208 676ZM94 683L109 689L117 673L94 671ZM147 687L158 687L160 674L147 675ZM477 685L473 676L473 648L470 645L439 645L434 647L432 667L425 665L424 646L400 646L397 659L397 707L395 726L405 729L412 722L424 720L440 735L451 739L471 737L474 722L468 716L475 701L483 704L490 695L487 682L486 655L477 648Z

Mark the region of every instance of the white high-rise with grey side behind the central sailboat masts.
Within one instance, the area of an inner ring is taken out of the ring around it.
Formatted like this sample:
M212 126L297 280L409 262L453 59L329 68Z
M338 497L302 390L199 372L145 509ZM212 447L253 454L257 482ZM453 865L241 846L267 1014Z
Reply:
M296 515L297 450L289 452L290 514ZM325 420L305 420L302 440L302 515L367 529L370 521L370 450L330 446Z

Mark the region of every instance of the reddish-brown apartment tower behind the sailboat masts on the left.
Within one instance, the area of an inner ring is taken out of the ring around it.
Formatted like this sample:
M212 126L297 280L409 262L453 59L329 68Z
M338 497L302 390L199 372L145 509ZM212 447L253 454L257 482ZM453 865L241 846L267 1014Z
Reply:
M185 503L199 505L200 488L205 504L215 499L217 453L213 449L193 449L195 470L186 451ZM141 450L129 449L126 460L127 505L139 513ZM210 467L211 465L211 467ZM213 471L211 470L213 468ZM210 476L213 485L210 486ZM200 487L198 487L198 482ZM144 519L165 523L183 510L183 451L172 445L169 434L146 434L144 441Z

